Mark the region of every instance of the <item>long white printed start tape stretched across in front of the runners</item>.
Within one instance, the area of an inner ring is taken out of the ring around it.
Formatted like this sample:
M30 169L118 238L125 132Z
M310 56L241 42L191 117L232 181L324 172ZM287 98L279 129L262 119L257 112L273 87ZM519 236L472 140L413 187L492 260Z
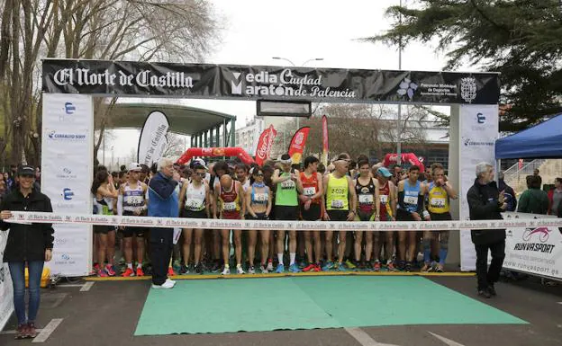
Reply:
M471 220L471 221L273 221L273 220L222 220L214 218L184 217L120 217L113 215L62 214L12 211L5 222L52 223L75 225L137 226L163 228L204 229L268 229L295 231L435 231L468 229L505 229L512 227L562 227L562 218Z

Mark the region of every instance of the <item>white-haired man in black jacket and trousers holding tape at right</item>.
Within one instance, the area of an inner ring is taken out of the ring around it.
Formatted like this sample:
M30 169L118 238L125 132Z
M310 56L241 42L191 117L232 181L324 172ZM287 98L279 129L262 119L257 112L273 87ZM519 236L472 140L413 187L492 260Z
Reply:
M501 220L501 212L507 208L504 195L494 182L494 166L485 162L477 164L476 181L467 192L470 219ZM494 283L500 277L505 258L505 229L473 229L470 234L476 249L478 296L495 296ZM489 269L488 251L492 254Z

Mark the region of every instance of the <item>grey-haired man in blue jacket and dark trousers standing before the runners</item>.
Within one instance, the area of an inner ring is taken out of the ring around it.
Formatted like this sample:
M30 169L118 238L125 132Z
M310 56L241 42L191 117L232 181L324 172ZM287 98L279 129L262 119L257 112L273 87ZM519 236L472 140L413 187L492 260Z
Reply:
M177 217L179 213L178 182L174 179L174 163L161 158L158 173L149 182L149 217ZM152 288L173 288L176 281L168 279L168 263L172 255L173 228L150 229Z

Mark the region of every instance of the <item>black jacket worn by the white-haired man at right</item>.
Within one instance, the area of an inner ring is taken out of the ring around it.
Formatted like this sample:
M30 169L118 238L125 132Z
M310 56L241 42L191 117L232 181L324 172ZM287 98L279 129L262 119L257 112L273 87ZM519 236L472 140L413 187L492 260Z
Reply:
M498 206L498 191L495 182L481 185L476 179L467 192L471 220L501 220L502 209ZM470 232L474 244L494 244L505 240L505 229L473 229Z

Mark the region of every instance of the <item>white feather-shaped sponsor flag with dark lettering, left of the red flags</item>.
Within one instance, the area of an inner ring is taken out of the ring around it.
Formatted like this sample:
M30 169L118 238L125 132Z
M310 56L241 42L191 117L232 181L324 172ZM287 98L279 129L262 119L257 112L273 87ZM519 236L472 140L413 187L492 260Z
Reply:
M139 150L137 159L139 164L151 164L158 162L162 153L168 145L166 134L168 133L168 117L161 111L152 111L141 130L139 138Z

